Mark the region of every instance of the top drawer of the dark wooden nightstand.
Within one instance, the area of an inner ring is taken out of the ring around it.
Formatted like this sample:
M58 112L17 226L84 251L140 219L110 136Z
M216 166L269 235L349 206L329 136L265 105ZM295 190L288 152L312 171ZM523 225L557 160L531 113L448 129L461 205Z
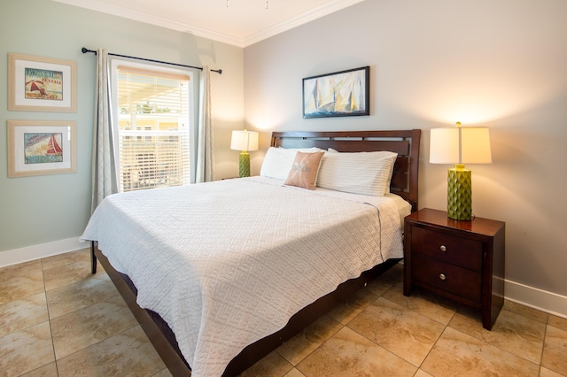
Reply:
M412 227L411 249L415 254L423 254L478 272L482 270L482 242L423 227Z

